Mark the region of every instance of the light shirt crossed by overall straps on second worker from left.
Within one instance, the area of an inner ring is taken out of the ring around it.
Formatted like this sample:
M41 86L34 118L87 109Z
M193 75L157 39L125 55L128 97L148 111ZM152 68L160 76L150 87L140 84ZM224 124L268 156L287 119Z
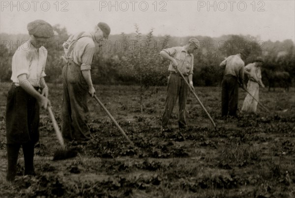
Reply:
M65 56L70 57L73 61L81 66L81 70L89 70L91 69L91 63L93 60L93 56L95 53L95 44L94 44L94 36L89 33L83 33L78 39L79 33L74 34L69 37L69 39L63 44L63 48L65 49ZM78 39L78 40L77 40ZM75 44L75 40L77 40ZM71 49L73 45L72 51L68 51Z

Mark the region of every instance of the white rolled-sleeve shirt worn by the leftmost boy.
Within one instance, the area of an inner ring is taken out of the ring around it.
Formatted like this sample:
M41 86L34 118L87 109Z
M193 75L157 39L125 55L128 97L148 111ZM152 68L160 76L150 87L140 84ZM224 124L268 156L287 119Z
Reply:
M45 47L42 46L37 49L29 41L24 42L12 57L12 82L19 85L17 77L21 74L27 74L30 84L40 87L40 78L46 76L46 58L47 50Z

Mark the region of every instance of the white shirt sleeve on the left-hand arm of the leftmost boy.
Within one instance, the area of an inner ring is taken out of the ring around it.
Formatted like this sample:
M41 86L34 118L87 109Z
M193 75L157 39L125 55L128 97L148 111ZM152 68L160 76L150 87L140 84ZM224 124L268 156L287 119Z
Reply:
M12 69L15 76L18 77L22 74L27 74L29 76L29 52L28 51L20 51L15 54L12 58Z

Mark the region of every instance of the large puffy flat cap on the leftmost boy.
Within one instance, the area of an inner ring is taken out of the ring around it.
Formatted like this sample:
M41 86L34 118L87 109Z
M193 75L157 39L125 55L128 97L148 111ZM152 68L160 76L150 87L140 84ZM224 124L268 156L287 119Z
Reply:
M28 24L29 34L36 37L50 38L54 35L52 26L43 20L35 20Z

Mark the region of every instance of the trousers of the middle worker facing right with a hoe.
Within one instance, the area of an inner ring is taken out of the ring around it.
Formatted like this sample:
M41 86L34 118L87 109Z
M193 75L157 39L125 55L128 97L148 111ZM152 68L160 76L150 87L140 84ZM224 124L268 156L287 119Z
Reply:
M185 76L185 79L188 81L188 77ZM165 110L162 117L162 127L167 128L169 119L173 112L175 103L178 97L178 126L179 128L186 127L185 120L185 107L186 100L188 96L188 85L184 82L182 77L179 74L170 74L167 87L167 97L165 103Z

